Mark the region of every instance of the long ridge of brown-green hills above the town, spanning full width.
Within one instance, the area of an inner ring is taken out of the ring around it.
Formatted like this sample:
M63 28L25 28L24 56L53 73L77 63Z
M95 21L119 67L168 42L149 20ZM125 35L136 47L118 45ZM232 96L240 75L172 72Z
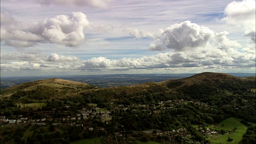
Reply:
M230 74L204 72L188 78L166 80L163 82L146 82L134 86L98 88L93 85L58 78L38 80L1 90L1 99L14 97L26 103L45 101L52 98L80 97L101 95L96 102L106 102L116 98L127 98L128 95L140 96L145 93L178 92L192 98L207 97L218 92L240 93L255 88L255 77L238 78Z

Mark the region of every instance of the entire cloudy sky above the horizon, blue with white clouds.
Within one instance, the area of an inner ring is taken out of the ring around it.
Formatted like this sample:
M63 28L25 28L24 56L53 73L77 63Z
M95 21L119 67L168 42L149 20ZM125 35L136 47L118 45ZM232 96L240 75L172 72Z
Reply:
M255 0L1 0L0 76L256 70Z

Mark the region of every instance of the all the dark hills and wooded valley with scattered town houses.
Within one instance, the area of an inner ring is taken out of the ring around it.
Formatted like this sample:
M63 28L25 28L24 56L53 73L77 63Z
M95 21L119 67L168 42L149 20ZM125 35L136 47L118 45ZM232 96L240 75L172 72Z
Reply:
M28 82L1 90L1 143L253 143L255 81L206 72L106 88Z

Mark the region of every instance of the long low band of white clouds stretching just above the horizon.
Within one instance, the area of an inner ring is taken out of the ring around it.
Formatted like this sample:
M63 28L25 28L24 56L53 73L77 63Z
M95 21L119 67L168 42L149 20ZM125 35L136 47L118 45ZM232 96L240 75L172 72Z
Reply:
M94 57L80 60L75 56L50 54L44 56L40 52L21 54L3 54L1 70L136 70L155 68L255 68L255 52L252 48L243 48L243 52L227 51L212 48L211 50L194 52L166 52L141 58L121 58L118 60L106 57ZM231 52L231 53L230 53Z

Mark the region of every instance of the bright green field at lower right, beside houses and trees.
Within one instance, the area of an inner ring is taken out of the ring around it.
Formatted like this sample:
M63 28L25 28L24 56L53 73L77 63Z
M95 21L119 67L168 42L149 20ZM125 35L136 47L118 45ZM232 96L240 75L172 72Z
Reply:
M222 126L222 124L224 124L224 126ZM237 128L236 132L234 132L232 134L224 134L224 135L219 134L214 138L208 138L208 140L210 140L212 144L217 144L217 143L237 144L238 142L240 142L240 140L242 140L242 136L246 132L246 129L247 129L247 127L244 124L239 122L239 119L237 119L237 118L228 118L228 119L223 120L222 122L216 124L216 126L212 127L212 129L232 130L235 127ZM232 138L233 141L228 142L227 141L228 137Z

